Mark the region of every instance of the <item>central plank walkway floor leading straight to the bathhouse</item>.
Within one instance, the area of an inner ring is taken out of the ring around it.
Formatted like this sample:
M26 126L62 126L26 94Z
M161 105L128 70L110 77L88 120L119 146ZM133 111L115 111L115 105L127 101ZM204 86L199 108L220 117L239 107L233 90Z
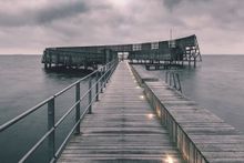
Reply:
M81 132L71 139L58 162L183 162L126 62L119 63L93 113L82 121Z

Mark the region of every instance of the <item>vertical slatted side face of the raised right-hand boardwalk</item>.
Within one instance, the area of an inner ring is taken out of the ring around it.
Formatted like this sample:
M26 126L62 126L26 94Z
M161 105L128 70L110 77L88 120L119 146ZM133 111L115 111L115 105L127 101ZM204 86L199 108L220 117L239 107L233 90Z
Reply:
M161 102L161 99L155 95L148 84L144 85L144 89L148 100L155 110L161 123L169 130L172 142L177 146L184 160L187 163L209 163L194 141Z

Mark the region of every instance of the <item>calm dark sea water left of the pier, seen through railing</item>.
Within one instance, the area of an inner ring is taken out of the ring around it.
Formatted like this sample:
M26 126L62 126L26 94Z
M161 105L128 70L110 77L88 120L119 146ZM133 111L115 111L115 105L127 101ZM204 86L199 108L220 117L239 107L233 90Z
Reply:
M81 72L47 72L40 55L0 55L0 124L34 106L84 77ZM88 82L81 84L81 92ZM55 100L57 120L74 103L74 89ZM0 133L0 162L17 162L47 132L47 105ZM74 124L72 112L57 130L57 146ZM4 147L2 147L4 146ZM30 157L29 162L48 162L48 141Z

